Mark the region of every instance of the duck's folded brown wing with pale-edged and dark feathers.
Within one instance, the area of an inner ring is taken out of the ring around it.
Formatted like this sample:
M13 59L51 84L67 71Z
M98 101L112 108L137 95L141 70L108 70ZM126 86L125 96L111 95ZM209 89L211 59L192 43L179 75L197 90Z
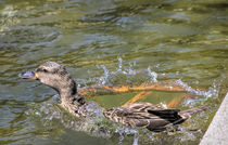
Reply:
M130 127L148 128L150 131L163 131L168 124L183 122L179 109L164 108L150 103L134 103L106 110L104 116L114 122Z

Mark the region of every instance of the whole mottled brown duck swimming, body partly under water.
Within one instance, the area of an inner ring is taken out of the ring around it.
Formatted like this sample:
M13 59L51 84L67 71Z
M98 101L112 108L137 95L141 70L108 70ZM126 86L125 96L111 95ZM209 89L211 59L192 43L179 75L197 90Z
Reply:
M47 62L35 70L21 72L18 77L39 80L41 83L53 88L60 94L61 106L72 115L79 118L97 116L97 110L88 109L92 102L86 101L77 92L76 82L64 66L55 62ZM119 122L131 128L147 128L154 132L164 131L169 126L182 123L192 114L206 109L206 107L201 106L188 110L179 110L176 108L164 108L150 103L132 103L112 109L99 108L103 116L113 122Z

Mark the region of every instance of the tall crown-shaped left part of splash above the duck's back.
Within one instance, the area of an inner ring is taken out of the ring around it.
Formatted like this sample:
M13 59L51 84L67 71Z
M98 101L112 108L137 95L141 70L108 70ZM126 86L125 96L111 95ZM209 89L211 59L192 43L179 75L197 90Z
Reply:
M123 84L123 83L138 83L137 77L141 81L148 81L150 82L157 82L157 74L155 71L152 71L150 67L148 69L142 70L136 70L134 67L136 66L136 62L131 62L128 64L128 66L123 65L123 60L118 57L118 66L115 70L111 71L107 69L105 65L97 65L97 68L103 69L103 75L98 78L90 78L89 80L81 81L80 79L77 80L78 87L86 87L86 83L96 83L94 85L110 85L113 87L116 83ZM83 89L83 88L81 88Z

